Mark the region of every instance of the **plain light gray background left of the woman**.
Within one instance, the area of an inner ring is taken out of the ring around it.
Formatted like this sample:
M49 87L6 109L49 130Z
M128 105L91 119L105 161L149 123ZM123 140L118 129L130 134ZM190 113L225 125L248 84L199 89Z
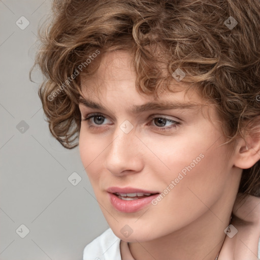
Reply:
M42 77L29 81L38 24L49 10L49 0L0 1L1 260L82 259L84 247L109 228L78 147L65 149L49 133L37 93ZM23 30L21 16L29 21ZM73 172L82 178L76 186L68 180ZM21 224L29 229L24 238Z

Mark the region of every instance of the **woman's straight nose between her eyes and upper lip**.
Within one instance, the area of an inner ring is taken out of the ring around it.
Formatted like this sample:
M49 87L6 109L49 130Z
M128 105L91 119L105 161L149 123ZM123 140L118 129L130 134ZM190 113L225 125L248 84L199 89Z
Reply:
M144 150L142 142L136 136L135 128L125 133L118 126L106 153L105 167L114 175L134 174L143 169Z

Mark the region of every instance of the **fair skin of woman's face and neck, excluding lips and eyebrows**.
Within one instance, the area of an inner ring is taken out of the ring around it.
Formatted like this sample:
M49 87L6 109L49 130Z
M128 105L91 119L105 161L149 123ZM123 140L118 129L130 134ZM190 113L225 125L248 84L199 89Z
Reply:
M238 192L240 147L231 154L229 146L220 146L225 139L214 106L129 113L133 105L154 101L153 96L137 92L135 79L131 55L125 51L105 53L98 71L81 79L83 98L106 108L103 111L79 104L82 119L91 113L106 117L100 124L94 118L82 121L79 137L81 160L96 200L114 234L130 242L136 260L214 260L225 239L223 231L230 223ZM172 87L175 92L161 93L157 101L206 104L194 88L185 95L187 85L174 79ZM160 126L151 116L180 124ZM134 127L128 134L120 129L125 120ZM108 187L164 192L200 154L204 158L156 206L122 213L111 205ZM126 224L133 230L127 238L120 232Z

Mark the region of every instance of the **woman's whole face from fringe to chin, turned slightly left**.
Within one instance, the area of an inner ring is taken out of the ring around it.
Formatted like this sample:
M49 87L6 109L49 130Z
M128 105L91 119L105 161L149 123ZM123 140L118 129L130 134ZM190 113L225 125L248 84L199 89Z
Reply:
M185 94L175 79L174 92L157 100L137 92L135 79L131 55L108 52L95 75L82 78L92 103L79 105L88 118L79 137L83 166L111 229L129 242L185 228L209 207L220 209L238 184L214 107L201 107L195 89ZM134 111L147 103L157 106ZM165 103L173 106L159 109Z

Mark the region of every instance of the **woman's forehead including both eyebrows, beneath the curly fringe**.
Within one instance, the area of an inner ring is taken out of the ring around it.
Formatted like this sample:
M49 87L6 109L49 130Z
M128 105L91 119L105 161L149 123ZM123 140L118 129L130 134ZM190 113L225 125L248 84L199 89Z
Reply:
M127 112L138 114L147 110L196 109L203 99L196 88L177 82L174 78L170 90L159 89L158 98L151 93L137 91L133 59L127 51L110 51L103 54L100 66L93 75L81 78L82 94L79 103L85 107L106 109L111 100L127 106Z

